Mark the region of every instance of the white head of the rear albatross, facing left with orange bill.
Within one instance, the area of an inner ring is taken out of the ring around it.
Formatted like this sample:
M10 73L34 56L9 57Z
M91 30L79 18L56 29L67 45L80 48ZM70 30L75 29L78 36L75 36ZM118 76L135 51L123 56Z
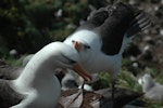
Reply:
M78 30L70 36L64 43L74 45L83 64L87 64L91 58L95 58L97 52L101 49L100 37L90 30Z

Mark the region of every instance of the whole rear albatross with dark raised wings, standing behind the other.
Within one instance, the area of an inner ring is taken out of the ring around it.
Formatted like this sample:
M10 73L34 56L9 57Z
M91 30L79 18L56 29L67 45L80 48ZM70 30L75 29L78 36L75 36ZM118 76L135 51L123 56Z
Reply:
M110 73L114 98L115 79L122 66L123 52L133 37L150 24L148 13L134 5L116 2L91 12L86 23L68 36L64 43L77 49L79 62L87 71Z

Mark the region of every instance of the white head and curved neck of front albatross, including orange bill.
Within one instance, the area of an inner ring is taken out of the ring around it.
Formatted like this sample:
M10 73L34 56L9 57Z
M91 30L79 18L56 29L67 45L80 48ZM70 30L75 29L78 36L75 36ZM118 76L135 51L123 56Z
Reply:
M16 79L16 85L24 89L21 91L26 91L26 87L30 85L37 86L40 79L46 81L47 78L53 77L58 68L70 68L84 79L91 80L91 76L82 68L78 60L79 55L76 49L62 42L52 42L33 56Z

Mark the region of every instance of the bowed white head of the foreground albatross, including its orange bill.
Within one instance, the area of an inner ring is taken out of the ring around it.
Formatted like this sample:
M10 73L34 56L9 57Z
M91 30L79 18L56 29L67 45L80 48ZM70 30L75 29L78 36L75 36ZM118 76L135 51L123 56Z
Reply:
M70 68L76 71L78 75L88 80L91 77L80 67L79 65L79 54L77 50L63 42L52 42L45 48L42 48L38 53L34 55L29 62L34 64L39 64L47 66L50 69L55 68Z

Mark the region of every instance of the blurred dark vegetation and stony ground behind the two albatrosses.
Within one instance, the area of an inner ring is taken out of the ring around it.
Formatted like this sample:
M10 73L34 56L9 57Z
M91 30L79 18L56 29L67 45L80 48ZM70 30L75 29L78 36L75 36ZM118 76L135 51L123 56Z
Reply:
M112 4L114 0L1 0L0 59L12 65L34 54L52 41L63 41L92 10ZM120 75L124 86L139 90L133 77L150 72L163 83L163 0L120 0L150 13L153 24L134 38L124 53ZM127 72L128 73L128 72ZM101 73L105 80L105 73ZM129 75L130 76L130 75ZM106 76L108 77L108 76ZM130 81L133 80L133 81ZM106 84L103 82L103 85ZM160 105L161 106L161 105ZM152 107L153 108L153 107ZM156 108L156 107L155 107Z

